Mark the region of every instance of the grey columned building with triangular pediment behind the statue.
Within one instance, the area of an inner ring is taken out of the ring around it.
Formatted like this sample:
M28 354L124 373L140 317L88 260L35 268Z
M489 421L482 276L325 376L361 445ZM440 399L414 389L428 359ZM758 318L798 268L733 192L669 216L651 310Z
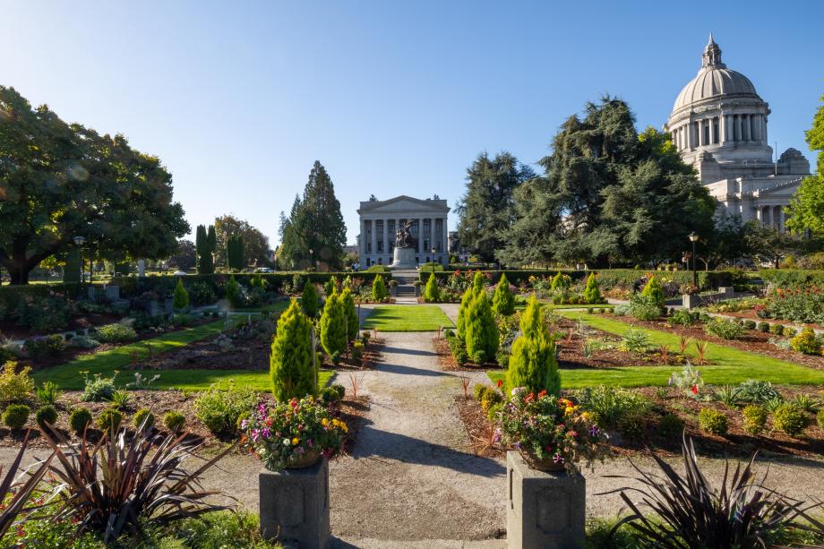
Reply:
M420 200L401 195L390 200L361 202L358 249L362 269L372 265L390 265L395 252L395 233L412 221L412 237L417 255L415 262L448 264L447 216L445 200Z

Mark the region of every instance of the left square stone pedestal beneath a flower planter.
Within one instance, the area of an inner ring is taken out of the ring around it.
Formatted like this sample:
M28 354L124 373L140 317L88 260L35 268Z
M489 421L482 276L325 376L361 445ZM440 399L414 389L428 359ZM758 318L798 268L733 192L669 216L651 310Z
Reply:
M259 477L261 533L264 538L296 543L301 549L329 545L329 462Z

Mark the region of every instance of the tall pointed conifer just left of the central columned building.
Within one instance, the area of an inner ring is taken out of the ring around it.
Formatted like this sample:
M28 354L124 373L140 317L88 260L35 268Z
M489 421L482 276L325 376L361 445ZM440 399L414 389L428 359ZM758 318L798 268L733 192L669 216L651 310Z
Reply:
M280 256L293 268L340 270L347 228L326 168L315 161L301 200L296 199L288 222L281 219Z

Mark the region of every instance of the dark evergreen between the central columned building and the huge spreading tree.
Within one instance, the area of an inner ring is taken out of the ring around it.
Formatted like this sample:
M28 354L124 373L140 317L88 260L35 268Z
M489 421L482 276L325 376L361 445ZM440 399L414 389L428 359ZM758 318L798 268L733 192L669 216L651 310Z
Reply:
M467 192L456 209L461 244L481 260L494 261L514 219L513 193L534 176L531 168L519 164L509 152L494 159L486 152L479 154L467 168Z

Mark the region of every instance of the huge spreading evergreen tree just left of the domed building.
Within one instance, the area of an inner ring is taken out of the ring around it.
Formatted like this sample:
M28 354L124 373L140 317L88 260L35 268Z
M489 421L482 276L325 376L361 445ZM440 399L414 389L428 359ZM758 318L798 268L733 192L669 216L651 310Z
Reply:
M622 100L589 103L554 137L545 173L514 194L507 263L593 265L681 256L686 236L713 230L714 202L669 136L638 133Z

